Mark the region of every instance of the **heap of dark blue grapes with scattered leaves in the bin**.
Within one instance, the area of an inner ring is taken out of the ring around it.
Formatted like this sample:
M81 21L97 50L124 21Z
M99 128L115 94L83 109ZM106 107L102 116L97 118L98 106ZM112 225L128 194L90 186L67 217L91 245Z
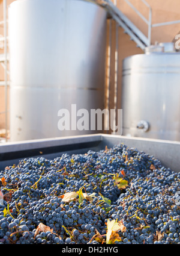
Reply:
M0 172L0 244L180 243L179 181L123 144L25 158Z

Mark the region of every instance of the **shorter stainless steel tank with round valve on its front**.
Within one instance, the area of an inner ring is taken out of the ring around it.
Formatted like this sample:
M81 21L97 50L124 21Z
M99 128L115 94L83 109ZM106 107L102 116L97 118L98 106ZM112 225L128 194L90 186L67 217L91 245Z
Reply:
M124 59L122 134L179 141L180 54L158 47Z

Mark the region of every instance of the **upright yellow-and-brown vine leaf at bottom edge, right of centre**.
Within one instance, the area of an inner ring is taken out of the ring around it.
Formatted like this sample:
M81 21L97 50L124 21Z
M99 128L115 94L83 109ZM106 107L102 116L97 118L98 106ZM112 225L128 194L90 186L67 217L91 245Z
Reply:
M107 234L106 234L106 243L112 244L115 241L121 241L121 237L119 237L118 231L124 233L126 231L126 227L124 226L122 220L107 220Z

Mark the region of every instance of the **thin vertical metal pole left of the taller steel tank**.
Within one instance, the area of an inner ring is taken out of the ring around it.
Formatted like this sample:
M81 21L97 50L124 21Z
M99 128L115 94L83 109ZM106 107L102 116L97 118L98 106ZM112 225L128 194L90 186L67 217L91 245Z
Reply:
M7 0L3 0L4 16L4 82L5 82L5 140L7 142Z

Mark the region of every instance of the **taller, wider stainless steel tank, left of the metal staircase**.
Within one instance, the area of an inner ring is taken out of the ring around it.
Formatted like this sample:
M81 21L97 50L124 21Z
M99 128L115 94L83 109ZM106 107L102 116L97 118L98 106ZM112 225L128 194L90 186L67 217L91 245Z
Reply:
M82 0L17 0L8 22L11 141L97 133L76 123L84 113L78 117L78 110L104 108L104 8Z

